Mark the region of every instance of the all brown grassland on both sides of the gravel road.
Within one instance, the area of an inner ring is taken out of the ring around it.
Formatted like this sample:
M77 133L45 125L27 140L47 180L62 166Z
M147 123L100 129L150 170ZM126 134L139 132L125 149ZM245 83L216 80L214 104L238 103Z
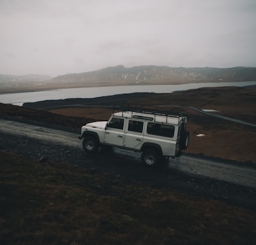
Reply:
M256 123L256 89L212 88L125 101L214 112ZM79 131L108 119L104 108L35 110L0 104L1 118ZM256 164L256 130L188 110L186 152ZM205 137L196 137L204 133ZM0 136L1 137L1 136ZM255 244L256 212L210 198L92 174L49 160L40 163L0 149L0 244Z

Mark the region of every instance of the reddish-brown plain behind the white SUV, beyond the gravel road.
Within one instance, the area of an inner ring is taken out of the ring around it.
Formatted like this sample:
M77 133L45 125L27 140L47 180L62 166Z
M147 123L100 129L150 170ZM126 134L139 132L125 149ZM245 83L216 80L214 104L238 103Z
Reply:
M212 114L225 115L256 124L256 89L240 87L193 89L173 94L152 94L146 98L131 98L131 100L122 101L122 103L166 110L175 109L170 107L171 105L212 109L219 111L212 112ZM113 109L87 107L50 111L71 117L108 120ZM256 163L255 127L232 123L187 108L186 111L188 112L188 131L190 132L190 143L186 152ZM205 137L196 137L199 133L204 134Z

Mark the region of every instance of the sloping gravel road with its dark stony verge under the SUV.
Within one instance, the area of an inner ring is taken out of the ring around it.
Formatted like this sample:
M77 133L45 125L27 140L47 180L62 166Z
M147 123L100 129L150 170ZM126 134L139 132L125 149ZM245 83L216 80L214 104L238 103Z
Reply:
M152 186L204 195L256 210L256 166L184 154L156 170L140 164L140 153L113 148L86 154L77 133L0 119L1 150L38 160L51 158L93 172L109 172Z

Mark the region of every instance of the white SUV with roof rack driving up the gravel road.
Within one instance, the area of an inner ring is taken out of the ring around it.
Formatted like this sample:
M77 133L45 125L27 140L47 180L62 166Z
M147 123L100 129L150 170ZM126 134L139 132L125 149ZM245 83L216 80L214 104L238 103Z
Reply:
M83 138L86 152L96 152L100 145L111 145L142 152L141 161L148 167L156 167L161 157L180 156L180 152L188 147L186 124L184 112L170 114L129 108L113 113L108 121L82 126L79 138Z

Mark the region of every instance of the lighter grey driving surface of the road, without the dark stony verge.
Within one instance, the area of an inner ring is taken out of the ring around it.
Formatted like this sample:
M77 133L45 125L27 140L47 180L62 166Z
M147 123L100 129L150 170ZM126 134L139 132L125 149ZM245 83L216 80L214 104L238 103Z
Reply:
M81 141L78 140L76 133L5 120L0 120L0 131L81 149ZM140 154L134 154L134 152L121 149L115 149L115 152L120 155L124 154L124 156L128 155L130 158L140 158ZM175 160L170 158L170 160L168 160L168 167L186 174L202 175L221 181L256 188L256 168L252 167L239 167L225 162L191 156L181 156Z

